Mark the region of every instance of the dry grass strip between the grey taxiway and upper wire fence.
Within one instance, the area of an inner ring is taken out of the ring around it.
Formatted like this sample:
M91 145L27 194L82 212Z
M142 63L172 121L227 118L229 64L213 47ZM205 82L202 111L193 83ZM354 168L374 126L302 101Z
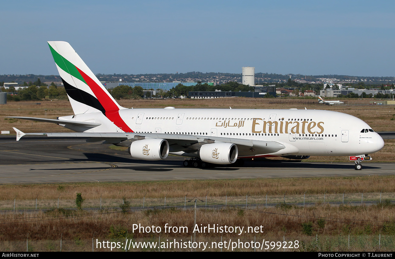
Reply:
M352 194L352 193L394 193L395 176L360 176L360 177L312 177L312 178L265 178L265 179L226 179L226 180L185 180L185 181L139 181L119 183L64 183L64 184L4 184L0 188L0 201L2 204L13 205L16 196L18 200L31 200L35 202L36 197L44 200L57 199L75 200L76 193L82 193L85 199L94 199L96 206L103 199L116 199L117 204L122 202L122 197L136 199L136 203L158 199L163 204L166 196L167 204L175 201L199 197L204 199L207 195L210 199L214 197L224 200L224 197L240 197L241 203L245 201L246 195L265 197L289 195L300 195L307 191L308 195L327 194ZM358 199L356 199L358 200ZM12 201L12 202L11 202ZM223 202L225 203L225 202ZM139 206L136 205L136 206ZM84 207L88 207L84 204Z

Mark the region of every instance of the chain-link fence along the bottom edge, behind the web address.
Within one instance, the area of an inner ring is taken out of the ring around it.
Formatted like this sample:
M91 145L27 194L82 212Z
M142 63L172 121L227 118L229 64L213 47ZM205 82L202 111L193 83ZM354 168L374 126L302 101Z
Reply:
M395 250L393 235L259 236L247 237L144 237L109 240L0 241L3 252L385 252Z

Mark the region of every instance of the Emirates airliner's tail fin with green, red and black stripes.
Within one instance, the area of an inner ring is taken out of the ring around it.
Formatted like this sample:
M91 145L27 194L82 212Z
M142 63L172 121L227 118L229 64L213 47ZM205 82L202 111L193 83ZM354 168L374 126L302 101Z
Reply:
M71 45L48 41L74 114L118 111L124 109L109 94Z

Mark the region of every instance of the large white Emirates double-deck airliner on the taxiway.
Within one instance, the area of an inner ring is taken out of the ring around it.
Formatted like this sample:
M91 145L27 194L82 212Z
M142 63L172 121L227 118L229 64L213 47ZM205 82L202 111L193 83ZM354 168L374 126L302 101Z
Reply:
M128 109L119 106L69 43L49 41L74 115L57 119L13 117L57 123L75 133L23 133L86 137L88 142L129 147L132 158L190 157L184 166L232 164L237 158L311 155L361 157L384 141L367 123L324 110Z

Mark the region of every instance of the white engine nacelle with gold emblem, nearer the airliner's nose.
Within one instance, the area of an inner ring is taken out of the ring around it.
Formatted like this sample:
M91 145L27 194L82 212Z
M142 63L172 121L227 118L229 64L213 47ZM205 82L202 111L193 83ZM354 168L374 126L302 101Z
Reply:
M232 143L212 143L200 147L199 156L204 162L213 164L232 164L239 155L237 145Z

